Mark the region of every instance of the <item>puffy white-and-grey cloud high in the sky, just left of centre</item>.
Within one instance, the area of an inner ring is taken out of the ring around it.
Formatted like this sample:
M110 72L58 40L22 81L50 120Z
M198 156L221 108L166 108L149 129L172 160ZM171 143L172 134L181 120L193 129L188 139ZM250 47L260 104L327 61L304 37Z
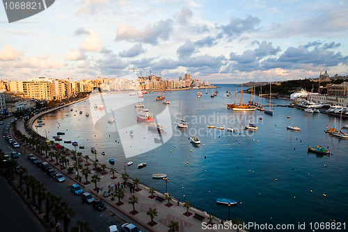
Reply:
M122 24L117 29L115 40L129 40L157 45L159 39L168 40L171 31L173 31L173 20L170 19L148 24L142 31L129 24Z

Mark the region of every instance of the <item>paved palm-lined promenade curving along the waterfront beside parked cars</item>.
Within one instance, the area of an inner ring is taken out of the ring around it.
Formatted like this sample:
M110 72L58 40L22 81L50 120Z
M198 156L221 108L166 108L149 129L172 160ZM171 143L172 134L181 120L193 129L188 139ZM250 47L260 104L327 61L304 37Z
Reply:
M47 114L49 111L53 110L55 109L50 109L48 111L35 115L35 117L31 118L30 120L31 125L35 118L39 118L42 115ZM26 135L26 137L30 137L26 130L24 130L24 120L17 121L17 129L21 131L22 134ZM24 144L22 143L21 145L24 146ZM166 196L164 196L164 194L162 194L161 192L155 192L155 194L153 194L155 197L151 197L149 187L145 185L139 184L139 189L135 189L133 193L131 192L130 188L130 186L133 185L133 180L127 180L127 185L124 187L125 197L120 200L122 203L120 204L120 206L118 206L118 198L114 196L114 199L112 199L111 194L109 194L109 185L111 185L111 183L114 185L113 191L110 191L110 193L115 192L118 182L123 183L124 181L122 179L122 173L111 173L108 169L104 169L104 171L102 171L100 165L98 165L99 168L95 169L93 162L90 162L90 160L86 162L86 160L82 158L81 164L83 168L89 167L89 169L91 170L91 173L88 175L88 182L86 182L86 178L82 175L81 170L79 171L79 176L81 177L80 179L76 178L76 173L68 174L68 167L73 167L75 163L72 157L73 155L71 153L62 153L68 158L67 167L63 167L59 164L56 164L55 159L51 160L50 157L46 157L43 153L38 154L38 152L33 148L28 149L29 151L26 150L24 154L29 155L29 153L33 153L40 160L49 162L49 164L58 172L63 173L63 175L66 177L66 181L71 184L79 184L81 187L83 187L84 192L90 192L91 194L93 194L95 199L101 199L102 201L104 201L108 210L113 212L115 215L118 215L118 217L124 219L126 222L127 217L129 217L132 218L135 222L138 222L145 229L158 232L168 231L168 224L170 224L171 221L178 222L180 232L205 231L205 229L207 229L207 226L205 225L209 222L209 215L207 215L206 212L202 212L196 208L191 207L189 208L189 215L185 215L187 208L184 207L183 202L179 202L173 197L173 199L169 201L168 204L168 200L165 200ZM52 151L56 151L56 148L54 148L54 146L52 146ZM90 183L90 180L92 179L91 177L93 175L100 177L100 182L97 183L97 190L95 189L95 183ZM132 176L130 178L132 178ZM131 203L129 203L129 199L133 195L138 199L138 203L134 205L134 208L136 210L135 213L132 212L133 206ZM151 219L150 216L147 215L149 208L157 210L157 216L154 217L155 224L150 224ZM219 228L218 225L220 226ZM102 231L105 229L100 230ZM221 222L221 219L215 218L212 219L212 228L207 230L235 231L232 229L232 224L228 224L228 222Z

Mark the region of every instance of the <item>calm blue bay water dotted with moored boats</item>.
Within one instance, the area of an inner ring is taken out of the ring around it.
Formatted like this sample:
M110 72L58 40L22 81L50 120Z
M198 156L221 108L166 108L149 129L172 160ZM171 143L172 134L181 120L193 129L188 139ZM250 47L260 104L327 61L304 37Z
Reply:
M123 102L120 94L117 97L106 94L48 114L45 126L39 127L38 132L42 136L47 132L49 138L56 132L65 132L63 140L86 146L77 151L89 155L91 160L95 157L90 147L94 146L101 163L111 167L108 160L113 158L116 161L113 167L122 173L124 162L132 161L134 164L126 167L127 173L161 192L165 192L164 180L152 179L152 173L166 173L170 179L169 193L221 219L227 219L228 206L216 204L217 197L238 201L237 206L230 208L231 217L245 222L269 223L271 217L274 224L297 225L298 222L308 224L330 219L345 222L348 218L348 140L324 133L326 125L331 125L334 118L310 113L304 116L304 111L288 107L274 107L273 116L262 111L253 111L250 115L235 112L224 104L233 102L236 86L219 87L215 98L210 98L211 89L207 94L205 89L200 90L203 96L198 100L197 90L164 93L171 102L167 117L171 121L164 125L167 132L162 134L162 139L166 143L159 144L161 146L152 141L153 137L159 137L156 132L142 134L146 125L137 123L133 104L139 99L128 93L123 93ZM229 98L226 90L231 93ZM167 107L154 101L157 94L148 93L143 98L145 107L155 115ZM243 99L247 102L250 95L244 94ZM255 97L254 101L260 100ZM269 100L264 98L263 102L268 104ZM290 102L272 100L272 103L289 105ZM105 108L95 109L95 104L104 104ZM86 112L89 117L85 116ZM189 129L177 129L179 114L187 120ZM286 130L291 124L287 116L292 115L293 125L301 127L301 132ZM116 123L107 123L110 117L115 118ZM247 119L257 123L258 131L242 129ZM348 124L348 121L342 123ZM207 125L233 127L236 132L209 129ZM129 128L134 130L136 139L129 136ZM202 142L200 146L189 142L192 135L198 136ZM61 144L73 148L70 144ZM329 146L333 155L308 154L308 145ZM134 154L139 152L139 146L153 146L154 149L126 158L122 146L127 146L128 150L134 148ZM102 150L105 156L100 155ZM148 166L137 169L136 164L141 162Z

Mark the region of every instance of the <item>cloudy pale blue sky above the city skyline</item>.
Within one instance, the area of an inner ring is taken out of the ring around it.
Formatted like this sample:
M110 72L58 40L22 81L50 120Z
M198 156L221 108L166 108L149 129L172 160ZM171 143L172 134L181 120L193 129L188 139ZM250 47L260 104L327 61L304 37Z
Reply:
M346 0L57 0L8 23L1 5L0 79L345 76L347 12Z

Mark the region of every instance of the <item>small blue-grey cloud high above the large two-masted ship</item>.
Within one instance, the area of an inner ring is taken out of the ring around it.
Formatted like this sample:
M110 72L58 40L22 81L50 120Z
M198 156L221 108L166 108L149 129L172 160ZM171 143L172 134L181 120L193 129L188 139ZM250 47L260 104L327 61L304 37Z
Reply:
M251 15L247 15L245 20L231 17L230 23L225 25L221 25L221 29L226 36L239 36L244 32L256 31L255 28L260 24L261 20L258 17L253 17Z

